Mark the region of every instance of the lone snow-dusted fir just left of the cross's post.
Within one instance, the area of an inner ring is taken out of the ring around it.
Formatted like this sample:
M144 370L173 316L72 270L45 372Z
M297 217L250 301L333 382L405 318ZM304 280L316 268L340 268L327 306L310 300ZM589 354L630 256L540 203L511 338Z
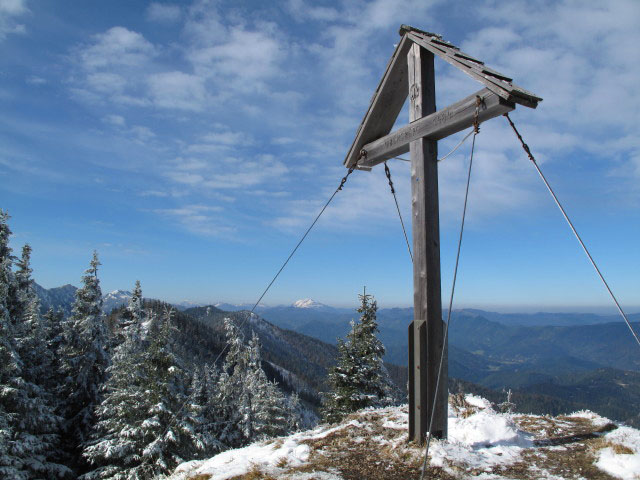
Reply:
M376 337L377 304L371 295L359 295L360 319L351 322L346 341L338 341L338 361L329 372L329 392L324 398L325 421L337 422L366 407L394 402L394 386L384 367L385 349Z

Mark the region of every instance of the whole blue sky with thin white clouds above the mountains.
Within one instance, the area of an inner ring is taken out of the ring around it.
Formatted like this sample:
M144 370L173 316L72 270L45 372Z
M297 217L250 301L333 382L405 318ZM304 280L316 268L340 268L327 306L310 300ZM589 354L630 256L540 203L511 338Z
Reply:
M402 23L544 98L512 118L640 309L640 3L0 0L0 207L36 280L255 301L345 173ZM442 108L481 86L436 63ZM406 122L406 111L398 123ZM456 305L587 311L603 287L504 119L477 139ZM441 141L441 152L459 139ZM468 145L440 166L448 296ZM390 163L409 216L409 168ZM381 168L355 172L264 302L412 303Z

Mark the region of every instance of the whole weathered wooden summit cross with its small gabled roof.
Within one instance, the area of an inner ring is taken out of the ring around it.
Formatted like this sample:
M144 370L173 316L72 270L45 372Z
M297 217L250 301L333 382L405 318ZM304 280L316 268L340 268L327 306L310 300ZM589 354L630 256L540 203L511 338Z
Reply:
M535 108L542 99L514 85L512 79L460 51L440 35L407 25L375 91L345 158L347 168L371 170L411 152L413 230L413 307L409 326L409 440L422 443L435 398L433 434L447 437L448 374L440 296L440 226L438 140L478 121L502 115L519 103ZM436 111L434 55L483 83L485 88ZM410 95L409 121L389 133ZM479 99L479 100L478 100ZM476 110L478 108L478 110ZM437 396L440 355L444 363Z

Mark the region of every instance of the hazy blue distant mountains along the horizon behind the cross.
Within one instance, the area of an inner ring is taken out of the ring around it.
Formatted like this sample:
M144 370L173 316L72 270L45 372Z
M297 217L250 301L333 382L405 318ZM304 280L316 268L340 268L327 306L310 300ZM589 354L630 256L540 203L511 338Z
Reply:
M36 286L43 310L52 306L67 314L75 290L72 285ZM123 290L107 293L105 311L126 304L130 296ZM286 389L300 390L309 405L317 406L326 371L336 358L336 339L344 338L358 313L303 299L287 306L260 305L249 318L247 310L252 307L225 303L179 307L176 318L190 332L183 339L185 355L210 358L223 343L222 319L235 318L244 323L246 335L250 329L259 334L270 377ZM407 327L412 316L411 308L378 310L385 360L399 385L406 383ZM640 315L630 319L640 331ZM512 389L520 411L558 414L590 408L640 425L637 409L629 407L640 403L640 349L627 326L612 320L617 319L456 310L449 339L451 388L464 385L467 391L495 401L502 399L503 389Z

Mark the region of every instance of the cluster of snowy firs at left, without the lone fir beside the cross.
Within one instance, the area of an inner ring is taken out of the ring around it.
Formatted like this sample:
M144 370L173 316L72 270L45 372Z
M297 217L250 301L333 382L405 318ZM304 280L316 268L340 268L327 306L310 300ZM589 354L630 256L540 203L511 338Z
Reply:
M71 314L41 315L31 248L12 255L8 219L0 210L2 478L152 478L300 427L304 409L267 377L255 333L226 319L220 361L194 362L172 307L145 303L139 282L103 313L96 253Z

